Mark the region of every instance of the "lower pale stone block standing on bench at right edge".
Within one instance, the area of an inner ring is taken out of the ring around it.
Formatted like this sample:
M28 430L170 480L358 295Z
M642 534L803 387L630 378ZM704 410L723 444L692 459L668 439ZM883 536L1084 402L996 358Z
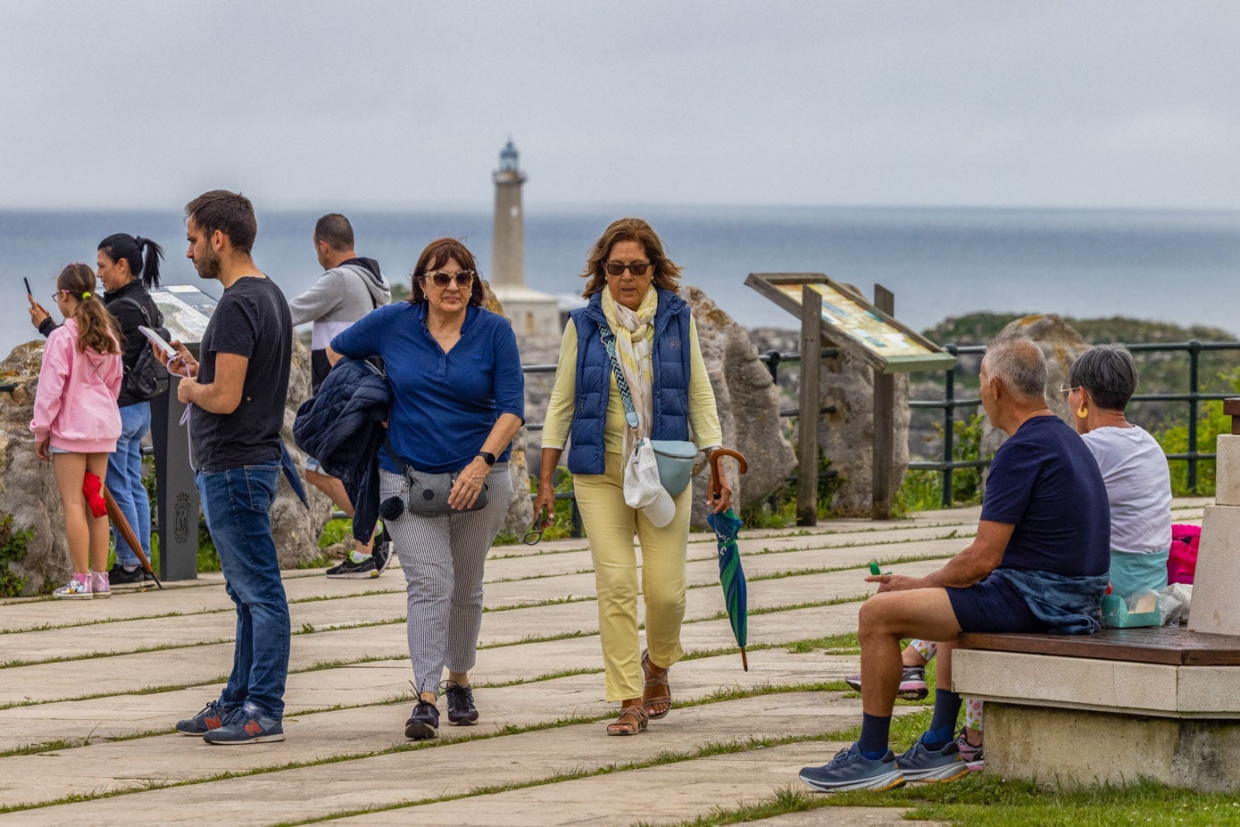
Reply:
M1205 506L1188 629L1240 635L1240 506Z

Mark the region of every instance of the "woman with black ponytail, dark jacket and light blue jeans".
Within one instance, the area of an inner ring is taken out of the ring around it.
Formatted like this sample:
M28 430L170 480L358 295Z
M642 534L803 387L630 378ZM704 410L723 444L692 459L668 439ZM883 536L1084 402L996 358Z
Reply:
M159 286L159 262L164 249L149 238L114 233L99 242L95 263L99 280L107 291L103 304L117 321L120 331L125 379L120 384L120 439L108 460L108 490L117 506L133 527L143 551L151 548L151 510L146 486L143 485L141 440L150 430L151 410L148 399L133 383L134 367L143 351L150 345L138 330L139 325L151 329L164 326L164 317L150 296ZM31 322L45 336L56 329L56 322L40 305L30 310ZM162 369L162 368L161 368ZM138 555L125 538L115 532L117 564L109 572L113 585L146 585L154 580L143 570Z

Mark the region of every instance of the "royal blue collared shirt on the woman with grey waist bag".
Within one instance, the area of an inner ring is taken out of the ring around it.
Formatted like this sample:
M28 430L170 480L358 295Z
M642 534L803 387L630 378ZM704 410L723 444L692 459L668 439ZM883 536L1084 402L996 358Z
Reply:
M331 340L352 358L378 356L392 386L388 439L419 471L455 472L469 465L500 414L525 419L526 381L512 325L470 305L461 337L449 352L427 330L427 305L397 301L367 314ZM507 461L508 445L497 458ZM379 451L379 466L399 474Z

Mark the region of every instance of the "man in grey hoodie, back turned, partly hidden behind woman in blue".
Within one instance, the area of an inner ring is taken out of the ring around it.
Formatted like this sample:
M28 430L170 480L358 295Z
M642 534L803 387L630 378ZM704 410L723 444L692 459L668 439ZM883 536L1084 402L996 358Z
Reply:
M317 393L331 371L327 343L371 310L388 304L392 288L379 272L378 262L358 258L353 252L353 228L345 216L334 212L320 218L314 228L314 245L325 273L314 286L289 301L289 310L293 311L294 325L314 322L310 332L310 387ZM310 458L306 459L306 481L331 497L337 508L353 516L353 503L348 501L345 486L324 474ZM377 542L357 543L343 563L327 569L327 577L377 578L391 559L391 546L387 532L381 531Z

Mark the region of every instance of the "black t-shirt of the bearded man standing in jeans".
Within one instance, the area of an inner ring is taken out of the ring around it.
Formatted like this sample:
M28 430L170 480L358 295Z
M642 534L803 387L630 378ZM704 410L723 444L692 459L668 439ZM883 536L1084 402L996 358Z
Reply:
M280 428L293 363L293 315L275 281L241 278L224 290L198 348L198 382L216 381L216 357L249 360L241 404L231 414L195 405L190 414L193 462L203 471L280 459Z

